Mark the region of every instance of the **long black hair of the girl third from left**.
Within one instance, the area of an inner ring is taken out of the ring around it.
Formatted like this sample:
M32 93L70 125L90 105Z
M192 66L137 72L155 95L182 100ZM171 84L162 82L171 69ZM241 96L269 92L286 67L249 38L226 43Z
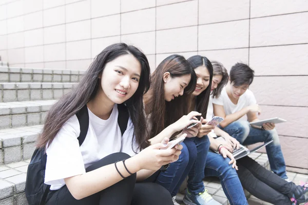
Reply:
M206 111L208 106L208 100L210 95L211 81L213 79L213 67L207 57L201 55L194 55L187 59L193 69L198 68L199 66L205 66L209 72L209 85L207 88L200 93L196 99L197 112L201 113L203 118L206 117Z

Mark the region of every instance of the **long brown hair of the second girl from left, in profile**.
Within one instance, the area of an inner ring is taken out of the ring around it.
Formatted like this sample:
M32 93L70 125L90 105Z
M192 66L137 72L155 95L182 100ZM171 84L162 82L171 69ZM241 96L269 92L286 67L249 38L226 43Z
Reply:
M163 80L165 72L169 72L171 77L191 75L190 82L184 89L184 94L169 102L165 100ZM196 88L196 81L197 76L194 69L181 55L170 55L158 65L152 74L150 90L145 96L145 110L147 115L150 114L149 120L151 122L149 138L155 137L167 126L188 113L187 104L190 94Z

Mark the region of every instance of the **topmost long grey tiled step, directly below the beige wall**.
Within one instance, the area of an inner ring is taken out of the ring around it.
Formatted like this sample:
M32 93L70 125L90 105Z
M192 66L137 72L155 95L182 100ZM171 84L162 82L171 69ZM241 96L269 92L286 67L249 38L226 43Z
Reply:
M0 82L76 83L85 71L12 68L0 66Z

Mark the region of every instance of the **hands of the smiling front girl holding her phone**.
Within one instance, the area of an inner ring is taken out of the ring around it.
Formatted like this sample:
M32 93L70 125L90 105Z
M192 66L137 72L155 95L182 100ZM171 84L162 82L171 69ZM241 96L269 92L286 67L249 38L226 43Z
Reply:
M186 134L182 136L186 137ZM179 159L183 146L176 145L169 150L160 150L166 147L166 142L168 144L169 139L165 137L161 143L151 145L135 156L138 163L137 166L139 166L140 170L146 169L156 171L163 165L167 165Z

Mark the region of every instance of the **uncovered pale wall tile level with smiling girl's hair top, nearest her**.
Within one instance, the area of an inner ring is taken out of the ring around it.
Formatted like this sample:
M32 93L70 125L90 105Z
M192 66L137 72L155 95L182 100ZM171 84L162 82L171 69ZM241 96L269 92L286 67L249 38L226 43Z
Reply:
M66 60L90 59L91 40L66 43Z

